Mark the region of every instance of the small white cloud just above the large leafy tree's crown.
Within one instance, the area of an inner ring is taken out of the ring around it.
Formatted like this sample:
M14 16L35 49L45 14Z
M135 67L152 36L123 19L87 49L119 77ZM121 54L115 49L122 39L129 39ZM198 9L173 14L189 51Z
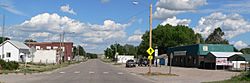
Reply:
M173 18L167 18L165 21L161 23L161 25L170 24L172 26L177 26L177 25L188 26L190 22L191 22L190 19L176 19L176 17L174 16Z

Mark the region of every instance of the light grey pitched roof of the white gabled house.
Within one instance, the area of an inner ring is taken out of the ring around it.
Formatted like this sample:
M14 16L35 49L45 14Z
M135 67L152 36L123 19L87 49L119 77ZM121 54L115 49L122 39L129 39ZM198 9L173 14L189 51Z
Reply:
M14 45L16 48L18 49L30 49L27 45L25 45L23 42L19 42L19 41L14 41L14 40L6 40L4 41L4 43L2 44L5 44L5 43L11 43L12 45ZM1 44L1 46L2 46Z

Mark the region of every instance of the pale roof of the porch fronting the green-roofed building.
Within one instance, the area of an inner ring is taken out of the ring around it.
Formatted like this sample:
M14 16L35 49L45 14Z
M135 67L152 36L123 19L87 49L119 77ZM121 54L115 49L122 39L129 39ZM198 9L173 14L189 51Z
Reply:
M242 54L241 52L210 52L215 57L230 57L235 54Z

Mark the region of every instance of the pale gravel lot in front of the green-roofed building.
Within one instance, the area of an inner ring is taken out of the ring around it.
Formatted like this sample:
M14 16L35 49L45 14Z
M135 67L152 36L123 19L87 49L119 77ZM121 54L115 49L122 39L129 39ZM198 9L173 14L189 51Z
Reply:
M114 65L132 74L147 73L148 67L125 68L125 65ZM152 67L152 72L168 73L169 67ZM178 76L142 76L157 83L200 83L209 81L218 81L230 79L232 76L238 75L239 72L230 72L225 70L205 70L198 68L172 67L172 74Z

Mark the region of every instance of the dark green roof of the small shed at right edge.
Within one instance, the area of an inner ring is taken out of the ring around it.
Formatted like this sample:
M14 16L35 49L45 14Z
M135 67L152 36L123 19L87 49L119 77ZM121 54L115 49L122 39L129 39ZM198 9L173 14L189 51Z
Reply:
M228 58L229 61L250 61L250 54L236 54Z

